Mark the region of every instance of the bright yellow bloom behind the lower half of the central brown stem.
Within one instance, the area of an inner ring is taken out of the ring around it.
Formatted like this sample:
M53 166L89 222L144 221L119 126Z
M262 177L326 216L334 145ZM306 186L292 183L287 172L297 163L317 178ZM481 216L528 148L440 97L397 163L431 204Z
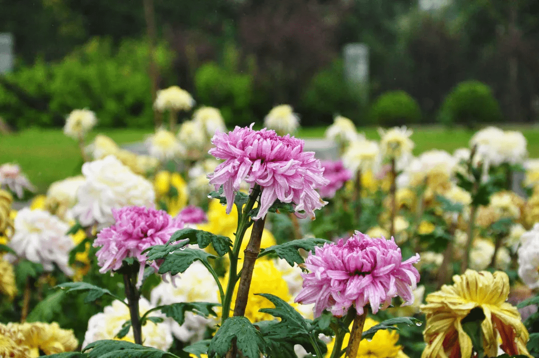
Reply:
M228 277L227 273L224 278L225 283L228 282ZM273 308L274 305L264 297L255 295L255 293L271 293L282 300L291 300L292 296L288 291L288 284L282 277L282 272L273 264L273 260L260 259L256 261L245 316L253 323L274 319L271 314L258 312L260 308ZM236 297L237 288L232 295L232 308L236 305Z

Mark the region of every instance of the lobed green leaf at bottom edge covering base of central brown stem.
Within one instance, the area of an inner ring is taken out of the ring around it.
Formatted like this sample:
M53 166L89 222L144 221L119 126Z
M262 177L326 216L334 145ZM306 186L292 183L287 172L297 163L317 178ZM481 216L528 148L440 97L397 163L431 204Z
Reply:
M236 340L238 350L247 358L260 358L266 352L266 342L257 328L244 316L227 318L213 336L208 357L224 357Z

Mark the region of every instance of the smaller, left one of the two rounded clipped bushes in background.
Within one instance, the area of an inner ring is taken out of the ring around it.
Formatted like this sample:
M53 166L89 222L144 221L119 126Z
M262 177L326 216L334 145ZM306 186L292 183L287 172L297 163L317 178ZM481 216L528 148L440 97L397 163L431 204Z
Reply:
M379 95L369 111L371 124L383 127L408 125L421 121L417 101L404 91L388 91Z

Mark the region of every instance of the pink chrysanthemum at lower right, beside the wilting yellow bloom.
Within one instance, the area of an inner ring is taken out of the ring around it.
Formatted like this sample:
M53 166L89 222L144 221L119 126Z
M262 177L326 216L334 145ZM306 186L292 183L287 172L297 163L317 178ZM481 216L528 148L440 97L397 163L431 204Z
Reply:
M419 254L402 261L395 240L370 238L359 231L346 242L324 244L309 252L302 273L303 288L296 297L302 304L314 303L315 316L328 309L335 316L343 316L356 306L357 314L370 303L372 313L377 313L400 296L404 306L413 303L413 293L419 273L412 264L419 261Z

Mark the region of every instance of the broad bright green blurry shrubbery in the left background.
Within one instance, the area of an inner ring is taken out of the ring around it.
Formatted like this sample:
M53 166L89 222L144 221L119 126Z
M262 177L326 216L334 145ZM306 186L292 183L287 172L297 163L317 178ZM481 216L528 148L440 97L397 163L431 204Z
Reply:
M100 127L153 126L148 47L125 40L113 50L108 39L94 38L59 63L37 60L0 82L0 115L16 128L63 126L73 109L96 113ZM171 54L156 50L161 74Z

